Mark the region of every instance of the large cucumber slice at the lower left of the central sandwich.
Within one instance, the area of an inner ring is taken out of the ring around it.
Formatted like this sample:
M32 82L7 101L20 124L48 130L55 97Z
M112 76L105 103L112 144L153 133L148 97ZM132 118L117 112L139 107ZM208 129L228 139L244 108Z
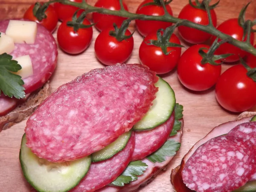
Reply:
M26 146L26 135L21 140L20 164L26 180L38 192L67 192L86 175L91 157L79 160L51 163L37 157Z

